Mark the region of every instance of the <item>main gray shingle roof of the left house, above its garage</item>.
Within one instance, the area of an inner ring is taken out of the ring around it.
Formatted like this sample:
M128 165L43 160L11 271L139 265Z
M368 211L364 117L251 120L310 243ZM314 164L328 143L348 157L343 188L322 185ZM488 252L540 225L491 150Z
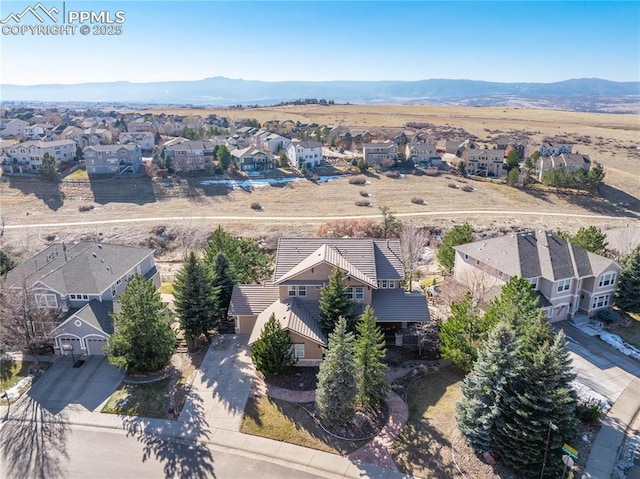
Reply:
M101 294L153 252L91 241L55 243L9 271L7 282L10 287L40 282L61 295Z

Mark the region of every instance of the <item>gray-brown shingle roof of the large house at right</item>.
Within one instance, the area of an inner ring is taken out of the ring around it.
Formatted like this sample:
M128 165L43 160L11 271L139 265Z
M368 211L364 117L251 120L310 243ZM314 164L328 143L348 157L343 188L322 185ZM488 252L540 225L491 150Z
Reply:
M544 231L476 241L455 249L509 276L550 281L598 276L615 264Z

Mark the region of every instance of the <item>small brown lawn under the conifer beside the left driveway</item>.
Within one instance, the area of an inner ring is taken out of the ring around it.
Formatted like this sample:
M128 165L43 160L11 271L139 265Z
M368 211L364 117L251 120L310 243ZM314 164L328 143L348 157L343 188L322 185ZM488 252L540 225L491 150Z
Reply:
M123 383L111 395L102 412L165 419L173 384L175 381L170 377L147 384Z

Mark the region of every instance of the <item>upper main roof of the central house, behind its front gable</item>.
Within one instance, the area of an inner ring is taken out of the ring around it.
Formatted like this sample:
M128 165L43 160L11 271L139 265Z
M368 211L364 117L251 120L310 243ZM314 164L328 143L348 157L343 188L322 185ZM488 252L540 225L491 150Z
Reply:
M330 246L357 271L371 279L402 279L398 240L371 238L281 238L278 241L273 280L278 283L322 246ZM310 261L310 260L309 260ZM340 266L340 265L339 265ZM342 268L342 266L340 266Z

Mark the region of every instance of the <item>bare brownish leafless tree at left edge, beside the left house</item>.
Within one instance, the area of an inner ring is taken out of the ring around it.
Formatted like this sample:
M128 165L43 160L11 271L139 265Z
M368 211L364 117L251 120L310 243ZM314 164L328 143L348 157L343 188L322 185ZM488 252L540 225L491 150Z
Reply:
M0 282L0 347L33 356L35 369L42 345L53 340L59 317L59 309L39 307L26 284L9 289L6 281Z

